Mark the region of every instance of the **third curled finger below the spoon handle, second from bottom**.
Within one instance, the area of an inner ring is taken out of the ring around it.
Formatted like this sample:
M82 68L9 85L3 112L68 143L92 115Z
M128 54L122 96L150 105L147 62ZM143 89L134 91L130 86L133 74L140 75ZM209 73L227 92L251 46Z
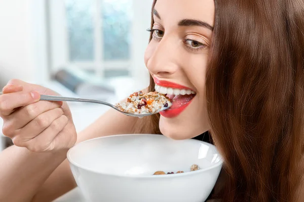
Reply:
M55 147L54 139L68 123L68 118L64 115L55 119L49 127L47 127L42 133L36 137L23 141L20 140L20 136L13 138L13 142L16 146L26 147L28 150L33 152L49 151Z

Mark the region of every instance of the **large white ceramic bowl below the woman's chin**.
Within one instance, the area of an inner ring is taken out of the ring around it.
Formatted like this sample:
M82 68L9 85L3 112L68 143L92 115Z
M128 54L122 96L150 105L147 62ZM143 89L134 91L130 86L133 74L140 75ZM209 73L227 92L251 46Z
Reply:
M222 167L212 144L151 134L87 140L70 148L67 159L86 201L94 202L202 202ZM201 169L188 172L193 164Z

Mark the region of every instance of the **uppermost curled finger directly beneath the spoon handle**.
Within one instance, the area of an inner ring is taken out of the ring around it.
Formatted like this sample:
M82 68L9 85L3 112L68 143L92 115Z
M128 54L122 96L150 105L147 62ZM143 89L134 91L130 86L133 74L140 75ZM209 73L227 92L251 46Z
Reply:
M28 124L30 121L35 118L43 118L41 116L43 113L48 112L50 110L60 108L62 106L62 102L49 102L49 101L40 101L37 103L33 103L27 105L12 114L6 117L7 125L14 129L20 129ZM60 108L61 111L63 108Z

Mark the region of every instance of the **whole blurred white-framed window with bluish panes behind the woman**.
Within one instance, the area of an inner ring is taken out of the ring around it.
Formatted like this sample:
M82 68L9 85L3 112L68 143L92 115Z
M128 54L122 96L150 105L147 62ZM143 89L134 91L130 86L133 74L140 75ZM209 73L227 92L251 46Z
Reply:
M77 68L101 78L144 78L152 0L48 2L50 66ZM136 39L136 40L135 40Z

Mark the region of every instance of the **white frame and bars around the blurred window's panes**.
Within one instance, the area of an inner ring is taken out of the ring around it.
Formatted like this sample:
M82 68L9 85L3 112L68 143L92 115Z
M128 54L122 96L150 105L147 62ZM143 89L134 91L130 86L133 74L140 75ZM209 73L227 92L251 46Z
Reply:
M39 0L38 0L39 1ZM47 0L44 0L47 1ZM93 12L93 24L102 23L100 0L93 0L96 9ZM49 35L49 70L54 74L60 68L80 68L84 70L94 70L97 76L104 78L106 70L128 70L130 78L136 79L139 86L146 87L149 84L149 73L144 64L144 52L148 44L149 32L146 31L151 21L151 5L153 0L132 0L133 19L130 27L131 44L130 60L123 61L103 61L101 46L95 45L94 62L69 61L69 44L67 22L65 17L64 0L47 1L47 21ZM102 44L101 29L94 26L94 43ZM91 68L93 67L93 68Z

